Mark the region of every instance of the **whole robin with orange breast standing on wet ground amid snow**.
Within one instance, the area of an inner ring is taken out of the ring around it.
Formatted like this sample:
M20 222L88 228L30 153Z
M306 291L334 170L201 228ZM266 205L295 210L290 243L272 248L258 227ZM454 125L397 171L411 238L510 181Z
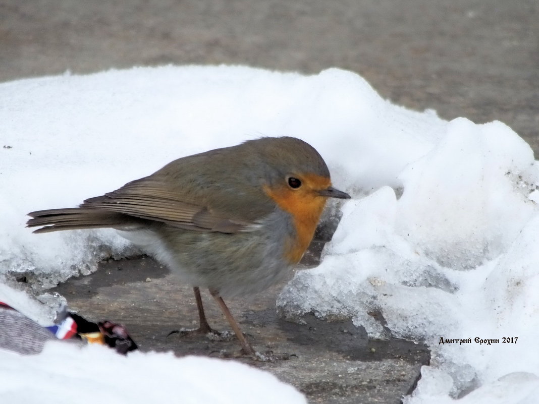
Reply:
M112 227L192 285L199 331L212 331L199 288L210 290L243 351L255 355L222 296L260 292L305 253L331 186L320 154L294 137L263 137L182 157L75 208L29 213L34 233Z

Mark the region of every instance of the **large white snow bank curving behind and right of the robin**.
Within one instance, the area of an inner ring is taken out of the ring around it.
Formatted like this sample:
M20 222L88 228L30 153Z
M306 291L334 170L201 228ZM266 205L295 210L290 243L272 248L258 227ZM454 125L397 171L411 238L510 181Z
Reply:
M178 157L262 135L296 136L321 152L333 184L353 199L341 206L321 265L296 273L281 292L282 315L349 317L370 337L429 345L431 366L406 404L537 401L539 165L505 124L413 112L339 69L65 74L1 83L0 100L1 273L37 276L47 286L89 273L103 257L133 253L109 230L33 235L24 228L27 212L77 206ZM38 362L59 350L13 361L11 373L25 366L45 378ZM82 354L107 355L93 350ZM183 366L158 354L131 358L118 361Z

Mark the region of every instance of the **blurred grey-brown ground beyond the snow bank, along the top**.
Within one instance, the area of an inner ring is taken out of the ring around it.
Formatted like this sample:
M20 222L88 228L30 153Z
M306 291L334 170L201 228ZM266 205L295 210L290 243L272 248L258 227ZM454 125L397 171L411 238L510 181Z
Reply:
M537 0L0 1L0 81L162 64L341 67L539 150Z

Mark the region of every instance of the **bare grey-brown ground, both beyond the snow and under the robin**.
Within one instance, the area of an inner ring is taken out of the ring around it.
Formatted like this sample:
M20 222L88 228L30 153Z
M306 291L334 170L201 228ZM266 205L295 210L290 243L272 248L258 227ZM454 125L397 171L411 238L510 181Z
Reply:
M537 0L2 0L0 81L134 65L247 64L303 73L335 66L407 108L505 122L538 151L538 20ZM191 326L196 308L190 289L147 258L103 263L59 290L81 314L126 323L144 350L236 350L233 341L167 337ZM429 360L424 347L369 341L346 322L286 323L275 315L278 291L230 307L259 350L295 354L274 364L247 362L291 382L311 402L398 403ZM226 328L204 297L210 319Z

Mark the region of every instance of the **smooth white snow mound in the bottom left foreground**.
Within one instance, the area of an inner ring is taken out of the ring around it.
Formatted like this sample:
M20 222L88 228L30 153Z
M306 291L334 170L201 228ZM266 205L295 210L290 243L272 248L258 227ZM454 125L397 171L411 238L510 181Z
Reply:
M235 361L172 353L121 356L102 345L51 342L37 356L0 351L0 402L306 404L268 372Z

